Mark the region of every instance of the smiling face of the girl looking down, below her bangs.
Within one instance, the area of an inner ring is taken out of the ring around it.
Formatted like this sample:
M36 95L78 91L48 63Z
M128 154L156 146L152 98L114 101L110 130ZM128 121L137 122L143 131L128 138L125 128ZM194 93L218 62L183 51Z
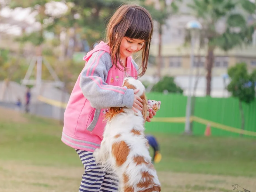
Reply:
M121 60L125 60L130 57L132 53L140 51L145 41L141 39L131 39L129 37L123 37L120 45Z

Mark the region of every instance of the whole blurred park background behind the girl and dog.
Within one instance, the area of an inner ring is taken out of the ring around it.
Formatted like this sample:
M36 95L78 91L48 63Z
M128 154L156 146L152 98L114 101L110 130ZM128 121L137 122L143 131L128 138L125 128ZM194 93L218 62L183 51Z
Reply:
M0 191L78 191L84 170L60 141L63 114L123 3L154 19L140 80L162 103L145 125L162 191L254 191L255 0L1 0Z

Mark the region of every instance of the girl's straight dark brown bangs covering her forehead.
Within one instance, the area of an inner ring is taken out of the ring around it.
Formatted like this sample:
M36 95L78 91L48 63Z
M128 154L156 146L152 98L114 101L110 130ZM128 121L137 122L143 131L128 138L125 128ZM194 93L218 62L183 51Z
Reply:
M147 14L143 14L137 9L131 9L126 15L128 29L125 33L126 37L131 39L141 39L144 41L149 41L152 36L153 24L148 18Z

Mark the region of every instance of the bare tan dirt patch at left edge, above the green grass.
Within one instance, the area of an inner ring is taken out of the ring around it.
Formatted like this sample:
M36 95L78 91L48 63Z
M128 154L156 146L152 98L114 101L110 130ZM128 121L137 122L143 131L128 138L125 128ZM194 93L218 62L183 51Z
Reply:
M0 107L0 121L2 122L17 122L17 123L27 123L28 120L24 117L21 111L12 110L8 108Z

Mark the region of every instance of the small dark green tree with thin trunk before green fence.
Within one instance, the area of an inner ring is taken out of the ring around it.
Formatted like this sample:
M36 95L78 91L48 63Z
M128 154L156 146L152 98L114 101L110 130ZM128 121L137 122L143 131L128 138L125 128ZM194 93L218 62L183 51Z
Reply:
M228 84L228 91L233 97L239 100L239 110L241 114L241 129L244 130L244 111L242 103L251 103L255 99L256 69L252 74L248 74L246 63L237 63L236 66L228 69L228 76L231 82ZM243 134L240 134L243 136Z

